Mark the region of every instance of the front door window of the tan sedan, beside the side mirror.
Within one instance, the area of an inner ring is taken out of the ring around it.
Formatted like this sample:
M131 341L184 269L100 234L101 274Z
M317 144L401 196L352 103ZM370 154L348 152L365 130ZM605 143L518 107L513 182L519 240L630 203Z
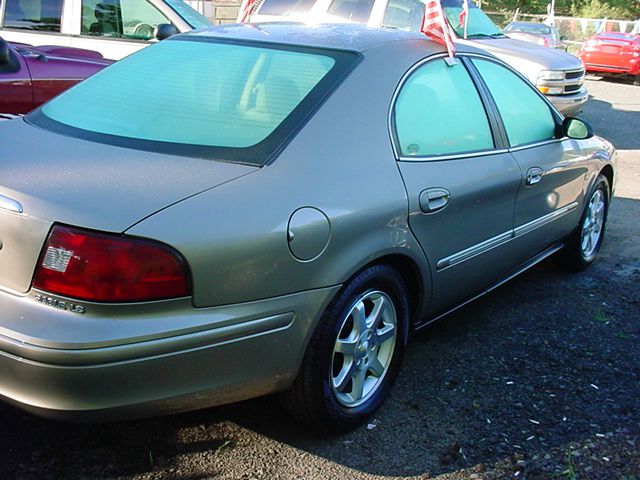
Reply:
M473 63L498 106L512 147L554 138L551 109L532 87L502 65L480 59Z

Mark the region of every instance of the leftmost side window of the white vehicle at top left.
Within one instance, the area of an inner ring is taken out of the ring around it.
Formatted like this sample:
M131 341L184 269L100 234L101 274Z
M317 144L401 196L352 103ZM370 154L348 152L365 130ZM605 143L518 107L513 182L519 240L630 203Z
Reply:
M4 28L59 32L62 0L4 0Z

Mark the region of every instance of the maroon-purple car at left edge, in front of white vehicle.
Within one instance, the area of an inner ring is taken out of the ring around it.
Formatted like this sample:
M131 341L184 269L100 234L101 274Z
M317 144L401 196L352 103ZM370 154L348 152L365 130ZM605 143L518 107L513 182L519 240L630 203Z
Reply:
M0 117L27 113L111 63L91 50L0 38Z

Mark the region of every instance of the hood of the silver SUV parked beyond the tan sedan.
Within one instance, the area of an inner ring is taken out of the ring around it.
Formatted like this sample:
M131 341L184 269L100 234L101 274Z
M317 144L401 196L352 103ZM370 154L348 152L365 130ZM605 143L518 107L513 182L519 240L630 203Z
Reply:
M506 63L512 63L515 59L533 62L543 70L579 70L582 68L582 62L570 53L515 38L483 38L481 40L458 41L482 48Z

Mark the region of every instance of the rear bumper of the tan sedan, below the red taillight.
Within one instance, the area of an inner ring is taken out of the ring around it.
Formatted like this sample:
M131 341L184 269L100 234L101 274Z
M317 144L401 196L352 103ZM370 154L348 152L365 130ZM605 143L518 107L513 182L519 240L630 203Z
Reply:
M39 415L91 421L193 410L283 390L338 288L207 309L182 299L111 319L82 318L29 296L0 293L0 396ZM81 329L84 338L67 344L59 332L35 338L33 331L25 336L4 328L15 315L24 319L38 310L44 333L52 332L48 323L73 329L86 321L95 328ZM110 329L101 328L109 323ZM144 334L144 325L155 328ZM132 337L136 328L141 335Z

